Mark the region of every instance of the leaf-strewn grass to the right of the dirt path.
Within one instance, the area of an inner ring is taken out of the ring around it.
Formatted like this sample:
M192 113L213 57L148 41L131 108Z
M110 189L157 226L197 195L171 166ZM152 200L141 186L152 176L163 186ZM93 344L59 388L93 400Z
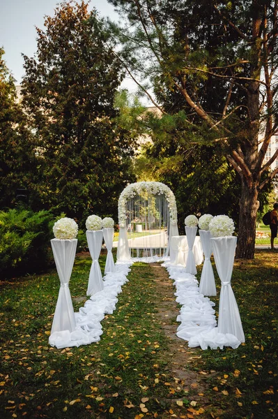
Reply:
M278 417L277 261L276 253L263 250L256 251L254 260L235 261L231 282L245 344L235 351L226 348L202 353L199 367L216 371L208 382L214 407L225 406L222 419ZM219 288L218 283L217 297L211 297L216 311Z

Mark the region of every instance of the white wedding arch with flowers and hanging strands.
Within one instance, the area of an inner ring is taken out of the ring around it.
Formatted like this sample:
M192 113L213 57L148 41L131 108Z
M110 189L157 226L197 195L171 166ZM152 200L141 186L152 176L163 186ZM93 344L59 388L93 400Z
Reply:
M178 235L176 198L161 182L130 184L118 200L118 222L118 261L168 256L171 237Z

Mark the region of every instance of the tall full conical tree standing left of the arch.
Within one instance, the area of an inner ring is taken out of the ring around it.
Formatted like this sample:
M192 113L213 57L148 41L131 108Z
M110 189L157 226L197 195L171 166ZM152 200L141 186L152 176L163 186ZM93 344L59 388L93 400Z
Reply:
M114 122L123 71L104 21L84 1L64 2L37 32L36 56L24 57L22 95L46 168L41 199L79 220L115 216L131 143Z

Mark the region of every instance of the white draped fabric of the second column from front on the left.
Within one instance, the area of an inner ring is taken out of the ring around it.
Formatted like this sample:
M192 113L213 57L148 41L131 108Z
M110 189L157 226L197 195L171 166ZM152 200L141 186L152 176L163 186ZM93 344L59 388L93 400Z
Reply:
M98 291L102 291L104 288L100 263L98 262L102 247L103 232L102 230L86 230L86 237L88 249L93 260L88 278L87 295L93 295L98 293Z

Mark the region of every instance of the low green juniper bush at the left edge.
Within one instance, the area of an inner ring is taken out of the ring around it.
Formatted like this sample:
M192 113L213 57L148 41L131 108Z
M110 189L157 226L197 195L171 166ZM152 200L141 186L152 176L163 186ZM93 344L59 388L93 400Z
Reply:
M26 274L49 263L53 215L24 208L0 211L0 274Z

